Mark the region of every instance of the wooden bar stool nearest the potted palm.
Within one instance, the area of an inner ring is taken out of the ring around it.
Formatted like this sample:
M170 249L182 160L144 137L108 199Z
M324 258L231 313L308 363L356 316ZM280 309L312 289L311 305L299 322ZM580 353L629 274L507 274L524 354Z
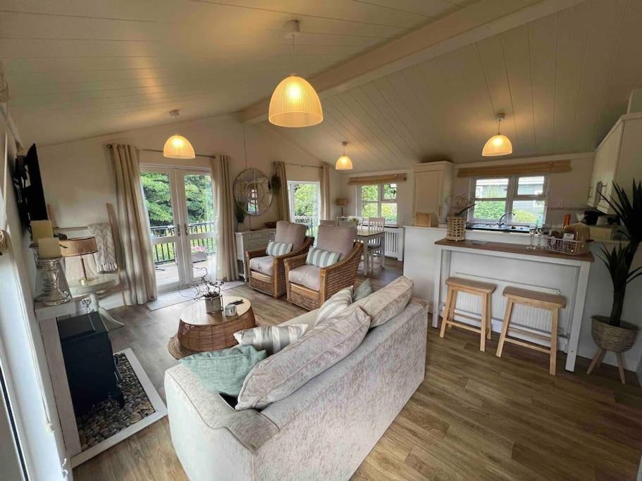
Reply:
M555 361L557 358L557 316L560 313L560 308L566 307L566 298L558 296L557 294L545 294L545 292L529 291L528 289L519 289L519 287L506 287L504 289L504 296L508 298L506 304L506 313L504 315L504 324L502 325L502 334L500 335L500 342L497 346L497 356L502 357L502 349L504 349L505 342L512 342L518 346L528 347L535 351L540 351L550 355L550 362L548 372L555 375ZM524 306L536 307L550 311L550 337L545 335L533 334L520 327L510 325L510 316L512 314L513 305L522 304ZM512 339L507 337L508 330L524 332L530 336L538 337L545 340L550 340L550 349L531 344L529 342L520 341L519 339Z

